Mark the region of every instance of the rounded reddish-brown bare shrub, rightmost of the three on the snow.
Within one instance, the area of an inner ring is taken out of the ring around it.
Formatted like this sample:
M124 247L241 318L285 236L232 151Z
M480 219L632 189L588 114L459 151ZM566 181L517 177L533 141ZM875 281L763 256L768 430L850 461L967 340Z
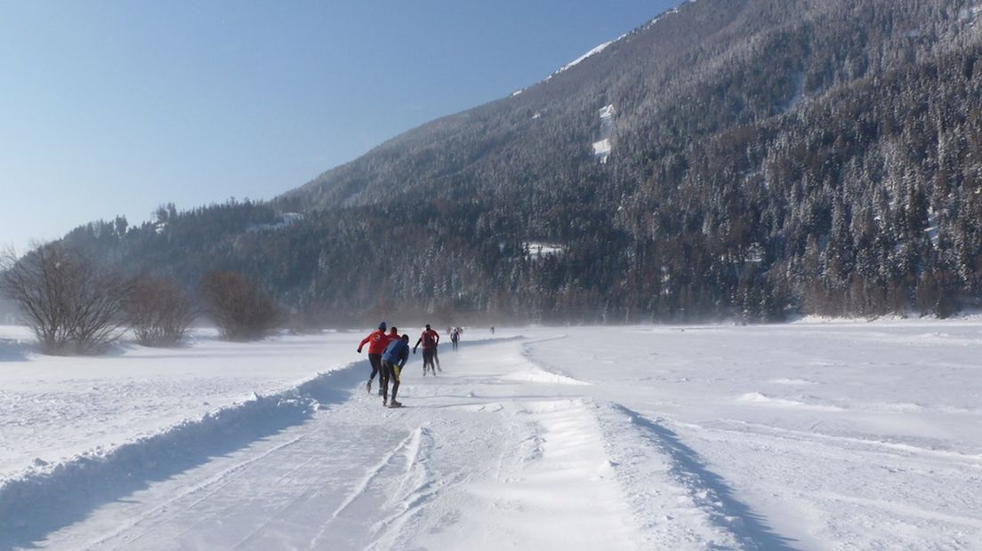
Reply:
M260 339L279 323L280 313L272 299L244 275L212 272L204 276L201 292L222 338Z

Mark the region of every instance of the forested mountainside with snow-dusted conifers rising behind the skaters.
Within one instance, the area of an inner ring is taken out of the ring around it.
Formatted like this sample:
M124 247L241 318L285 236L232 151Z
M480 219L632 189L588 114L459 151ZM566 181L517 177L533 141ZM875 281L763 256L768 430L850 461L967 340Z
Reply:
M67 240L342 322L948 315L982 290L979 11L685 2L271 201Z

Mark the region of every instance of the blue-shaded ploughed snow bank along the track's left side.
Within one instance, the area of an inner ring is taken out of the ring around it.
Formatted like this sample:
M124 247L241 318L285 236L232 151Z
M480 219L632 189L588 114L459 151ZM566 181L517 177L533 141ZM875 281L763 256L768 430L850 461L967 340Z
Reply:
M294 389L219 409L114 448L96 448L56 464L36 461L0 483L0 548L33 541L106 503L308 420L338 403L360 381L366 362L321 374ZM360 369L357 369L360 368Z

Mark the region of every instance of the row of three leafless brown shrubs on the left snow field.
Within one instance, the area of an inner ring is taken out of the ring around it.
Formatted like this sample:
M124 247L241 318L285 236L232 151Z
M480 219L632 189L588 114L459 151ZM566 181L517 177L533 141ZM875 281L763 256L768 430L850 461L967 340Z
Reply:
M144 346L176 346L201 315L230 340L262 338L281 320L253 281L231 272L205 275L198 301L173 278L127 276L58 242L21 258L7 254L0 264L0 293L45 354L104 353L127 329Z

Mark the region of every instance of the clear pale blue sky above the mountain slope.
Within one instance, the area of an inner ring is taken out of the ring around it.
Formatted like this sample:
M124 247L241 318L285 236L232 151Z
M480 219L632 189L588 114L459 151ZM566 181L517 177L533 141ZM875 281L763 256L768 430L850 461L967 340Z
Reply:
M678 0L0 0L0 246L269 199Z

